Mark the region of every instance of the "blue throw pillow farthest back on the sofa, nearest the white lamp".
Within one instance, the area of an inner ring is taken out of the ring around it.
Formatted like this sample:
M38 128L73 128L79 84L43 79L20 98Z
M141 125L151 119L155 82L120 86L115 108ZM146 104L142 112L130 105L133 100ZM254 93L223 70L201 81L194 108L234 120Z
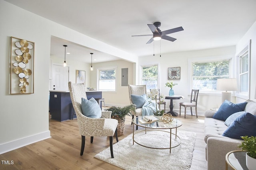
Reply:
M225 121L230 115L238 111L244 111L247 102L234 104L228 100L225 100L218 111L213 115L212 118Z

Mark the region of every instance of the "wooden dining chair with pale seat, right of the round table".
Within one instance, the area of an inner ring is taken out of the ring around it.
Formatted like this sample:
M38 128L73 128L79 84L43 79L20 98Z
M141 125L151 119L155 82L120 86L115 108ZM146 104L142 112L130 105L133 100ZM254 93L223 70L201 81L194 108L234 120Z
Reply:
M196 117L197 117L197 98L198 98L198 93L199 90L193 90L191 91L191 96L190 96L190 102L182 102L180 103L180 112L181 112L181 106L185 107L185 112L184 112L184 118L186 118L186 108L190 107L191 115L192 113L192 107L195 107L196 109Z

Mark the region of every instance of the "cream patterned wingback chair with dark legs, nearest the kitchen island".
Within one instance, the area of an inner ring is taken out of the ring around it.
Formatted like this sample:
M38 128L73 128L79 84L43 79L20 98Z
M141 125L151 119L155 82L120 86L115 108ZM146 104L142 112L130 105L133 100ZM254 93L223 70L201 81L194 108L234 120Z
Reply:
M86 98L86 89L83 83L72 84L68 82L68 88L70 91L70 97L72 105L76 112L79 132L82 135L82 145L80 155L84 153L85 137L90 137L90 142L93 142L93 137L97 136L109 136L110 141L110 153L111 158L114 158L113 155L113 136L116 135L116 141L118 142L117 137L117 125L118 121L116 119L111 119L111 111L102 111L101 118L90 118L82 114L81 108L81 98Z

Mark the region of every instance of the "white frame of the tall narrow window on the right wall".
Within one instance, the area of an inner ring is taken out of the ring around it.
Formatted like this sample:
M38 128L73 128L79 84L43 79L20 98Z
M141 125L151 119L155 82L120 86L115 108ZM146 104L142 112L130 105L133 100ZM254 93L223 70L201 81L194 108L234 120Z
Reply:
M248 53L248 82L247 82L247 92L241 92L241 83L240 83L240 70L241 70L241 63L240 63L240 57L244 56L246 53ZM240 51L240 53L238 53L236 55L236 63L237 63L237 71L236 71L236 75L237 75L237 79L238 79L238 91L236 91L236 97L238 98L242 98L245 100L250 99L250 68L251 68L251 40L247 43L247 45L244 47L244 49L242 49L242 51Z

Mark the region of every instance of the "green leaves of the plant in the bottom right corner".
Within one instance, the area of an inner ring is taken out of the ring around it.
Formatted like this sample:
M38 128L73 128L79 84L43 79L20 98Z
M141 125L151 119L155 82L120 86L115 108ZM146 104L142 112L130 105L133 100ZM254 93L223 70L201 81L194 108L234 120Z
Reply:
M238 148L247 151L250 157L256 159L256 137L242 136L241 138L244 139L244 141L242 141L241 145L238 145Z

